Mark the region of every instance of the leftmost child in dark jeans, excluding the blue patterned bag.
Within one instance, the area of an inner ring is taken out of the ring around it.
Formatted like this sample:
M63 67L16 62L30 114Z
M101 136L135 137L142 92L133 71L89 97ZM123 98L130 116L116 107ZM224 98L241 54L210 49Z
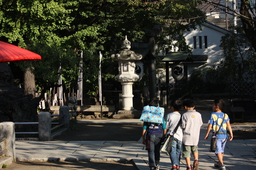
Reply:
M150 107L158 107L158 100L151 100L148 104ZM162 130L163 129L163 133ZM166 126L165 119L163 119L163 124L159 123L148 123L143 122L143 130L142 130L142 143L146 145L145 134L147 130L146 137L150 136L150 150L148 150L148 162L150 170L159 170L159 162L160 162L160 149L161 142L165 138L166 135Z

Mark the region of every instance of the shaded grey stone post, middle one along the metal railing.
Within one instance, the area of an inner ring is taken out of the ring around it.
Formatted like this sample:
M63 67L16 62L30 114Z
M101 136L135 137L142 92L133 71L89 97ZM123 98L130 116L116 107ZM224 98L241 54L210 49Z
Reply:
M38 114L38 132L40 141L50 141L52 120L49 112L39 112Z

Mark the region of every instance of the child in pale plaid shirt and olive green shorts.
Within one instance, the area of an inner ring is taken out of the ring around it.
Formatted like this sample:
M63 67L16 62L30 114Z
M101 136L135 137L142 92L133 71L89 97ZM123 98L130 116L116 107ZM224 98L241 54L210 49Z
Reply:
M195 161L193 162L193 170L199 169L198 161L198 141L200 135L200 127L203 124L202 116L199 112L194 110L195 105L192 99L185 99L183 101L185 113L182 115L181 127L183 129L182 139L182 157L187 163L187 170L192 170L190 165L190 154L192 152Z

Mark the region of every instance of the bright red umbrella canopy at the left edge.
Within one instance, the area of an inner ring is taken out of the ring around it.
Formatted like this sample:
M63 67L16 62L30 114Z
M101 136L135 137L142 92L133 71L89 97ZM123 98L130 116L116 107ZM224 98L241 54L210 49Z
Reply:
M0 63L26 60L41 60L41 56L24 48L0 41Z

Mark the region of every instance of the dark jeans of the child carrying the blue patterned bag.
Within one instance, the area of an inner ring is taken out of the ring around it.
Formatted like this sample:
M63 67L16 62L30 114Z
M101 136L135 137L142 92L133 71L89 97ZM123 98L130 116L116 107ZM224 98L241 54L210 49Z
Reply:
M150 150L148 151L149 167L155 167L160 162L162 134L150 135Z

